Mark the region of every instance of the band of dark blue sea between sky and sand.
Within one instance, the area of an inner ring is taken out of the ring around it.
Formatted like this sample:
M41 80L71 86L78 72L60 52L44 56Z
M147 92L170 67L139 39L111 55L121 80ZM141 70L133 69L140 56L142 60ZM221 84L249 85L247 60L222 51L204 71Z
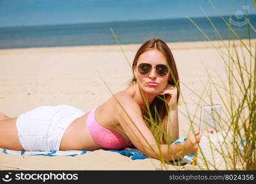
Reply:
M65 25L0 27L0 49L141 44L158 37L165 42L256 38L256 14L248 17L173 18ZM248 24L248 22L250 24ZM230 26L229 25L230 23ZM214 29L215 26L217 31ZM197 27L198 26L198 27ZM236 35L229 28L233 28ZM200 28L201 31L198 29ZM114 31L117 39L111 32ZM206 36L204 36L204 34Z

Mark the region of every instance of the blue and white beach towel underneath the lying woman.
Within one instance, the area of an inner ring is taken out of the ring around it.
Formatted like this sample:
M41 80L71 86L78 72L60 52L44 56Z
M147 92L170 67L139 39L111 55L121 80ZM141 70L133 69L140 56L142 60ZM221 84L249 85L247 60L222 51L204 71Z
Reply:
M185 140L187 140L187 138L181 138L181 139L177 139L176 142L174 142L173 144L179 144L181 142L184 142ZM128 156L129 158L135 160L135 159L146 159L149 158L145 155L143 155L141 153L141 151L139 151L136 148L125 148L123 150L105 150L105 151L112 151L115 153L119 153L123 156ZM84 155L86 153L90 153L92 151L80 151L80 150L68 150L68 151L50 151L50 152L44 152L44 151L14 151L14 150L7 150L4 149L3 150L4 153L6 154L14 154L14 155L30 155L30 156L38 156L38 155L42 155L42 156L76 156L76 155ZM195 156L195 153L191 153L185 156L180 157L179 159L177 159L176 161L171 161L171 164L173 165L185 165L188 163L192 163L193 162L193 157Z

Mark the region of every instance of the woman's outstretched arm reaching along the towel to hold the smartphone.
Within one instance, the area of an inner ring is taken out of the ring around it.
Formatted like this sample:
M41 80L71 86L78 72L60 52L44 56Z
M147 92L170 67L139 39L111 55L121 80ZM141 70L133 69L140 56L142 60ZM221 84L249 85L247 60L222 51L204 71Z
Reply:
M180 156L195 152L198 140L193 141L188 138L187 141L177 145L157 145L149 128L141 115L139 105L132 98L118 98L117 118L126 135L133 145L144 155L160 159L160 155L168 160L177 159Z

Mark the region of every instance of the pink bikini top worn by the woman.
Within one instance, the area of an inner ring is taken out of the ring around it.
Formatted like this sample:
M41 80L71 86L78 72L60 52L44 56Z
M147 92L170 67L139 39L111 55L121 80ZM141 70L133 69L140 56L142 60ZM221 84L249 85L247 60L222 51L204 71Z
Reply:
M87 118L88 131L93 140L103 148L109 150L119 150L128 147L128 144L123 137L115 131L106 129L95 120L95 109L91 110Z

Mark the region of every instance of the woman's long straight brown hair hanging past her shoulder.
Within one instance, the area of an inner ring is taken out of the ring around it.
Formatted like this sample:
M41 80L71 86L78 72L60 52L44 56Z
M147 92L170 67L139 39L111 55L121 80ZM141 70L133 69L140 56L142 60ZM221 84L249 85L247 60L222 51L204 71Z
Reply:
M142 53L152 48L155 48L158 51L160 51L166 58L166 61L169 67L169 74L171 76L168 80L168 84L174 85L177 87L178 89L177 102L178 102L179 94L180 94L179 75L177 72L177 67L174 61L173 53L171 53L170 48L168 47L168 45L166 45L166 43L163 40L154 38L145 42L139 48L138 52L134 56L132 68L134 68L134 66L137 65L139 56L141 56ZM137 82L136 80L137 79L133 74L133 79L130 81L129 85L131 86L134 83L136 83ZM147 123L147 126L149 127L155 139L158 142L160 142L160 144L168 144L169 137L171 136L166 134L169 110L167 108L168 106L166 105L166 101L163 99L166 99L166 95L157 96L157 98L153 100L153 102L149 106L150 112L147 112L147 115L144 115L144 120Z

